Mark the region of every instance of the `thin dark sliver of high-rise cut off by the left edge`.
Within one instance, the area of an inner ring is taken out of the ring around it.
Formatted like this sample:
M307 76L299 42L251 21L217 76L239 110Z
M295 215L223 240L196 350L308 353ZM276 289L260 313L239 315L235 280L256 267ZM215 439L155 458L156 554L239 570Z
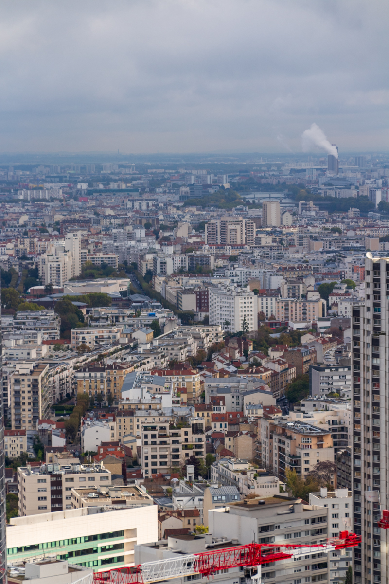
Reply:
M0 290L1 304L1 290ZM1 315L0 315L0 387L2 388L2 342L1 342ZM6 582L6 502L5 502L5 458L4 458L4 411L3 392L0 391L0 584Z

